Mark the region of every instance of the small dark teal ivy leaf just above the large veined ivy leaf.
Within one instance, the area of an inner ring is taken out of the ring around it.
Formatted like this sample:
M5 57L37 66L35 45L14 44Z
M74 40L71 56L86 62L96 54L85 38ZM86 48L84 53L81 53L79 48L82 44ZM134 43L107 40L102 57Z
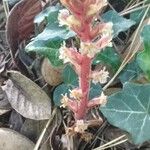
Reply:
M123 71L119 76L119 79L121 83L125 83L127 81L131 81L133 79L138 78L141 73L142 73L141 68L137 64L137 61L134 60L123 69Z

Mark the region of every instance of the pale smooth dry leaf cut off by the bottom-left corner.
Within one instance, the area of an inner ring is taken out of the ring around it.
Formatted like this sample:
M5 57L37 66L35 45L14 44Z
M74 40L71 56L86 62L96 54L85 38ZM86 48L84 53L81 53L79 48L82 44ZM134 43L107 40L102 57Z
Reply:
M33 150L34 143L18 132L0 128L1 150Z

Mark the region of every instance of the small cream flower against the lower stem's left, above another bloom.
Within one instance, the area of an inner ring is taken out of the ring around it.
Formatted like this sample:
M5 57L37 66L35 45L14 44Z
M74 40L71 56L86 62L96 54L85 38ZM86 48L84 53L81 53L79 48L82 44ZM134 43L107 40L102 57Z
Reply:
M70 90L70 98L81 100L82 98L82 90L79 88Z

